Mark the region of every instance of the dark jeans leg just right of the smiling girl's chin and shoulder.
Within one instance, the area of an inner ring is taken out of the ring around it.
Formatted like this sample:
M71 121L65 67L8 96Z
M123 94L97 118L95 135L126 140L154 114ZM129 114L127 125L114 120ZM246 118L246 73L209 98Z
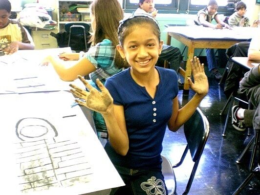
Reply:
M163 44L162 52L159 56L159 61L168 61L170 68L179 71L181 62L181 53L178 47L173 47L171 45Z

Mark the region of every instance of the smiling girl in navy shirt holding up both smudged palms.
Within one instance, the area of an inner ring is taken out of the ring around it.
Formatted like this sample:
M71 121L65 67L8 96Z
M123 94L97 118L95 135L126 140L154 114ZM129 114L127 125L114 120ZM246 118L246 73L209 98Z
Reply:
M89 92L70 85L71 92L86 101L76 100L80 105L102 113L108 126L105 150L126 184L110 195L167 195L160 155L166 126L178 130L207 94L204 66L194 57L194 83L188 80L195 95L179 109L176 72L155 66L163 44L156 20L147 14L130 17L118 35L117 49L130 68L110 77L105 87L97 81L101 92L79 76Z

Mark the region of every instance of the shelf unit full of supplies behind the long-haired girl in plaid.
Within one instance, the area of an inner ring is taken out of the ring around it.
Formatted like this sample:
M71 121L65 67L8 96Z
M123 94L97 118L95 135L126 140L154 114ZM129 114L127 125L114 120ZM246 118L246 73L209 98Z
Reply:
M90 24L89 5L92 1L93 0L58 0L58 31L65 31L64 25L68 22L86 22ZM73 7L75 9L71 10L71 5L74 5Z

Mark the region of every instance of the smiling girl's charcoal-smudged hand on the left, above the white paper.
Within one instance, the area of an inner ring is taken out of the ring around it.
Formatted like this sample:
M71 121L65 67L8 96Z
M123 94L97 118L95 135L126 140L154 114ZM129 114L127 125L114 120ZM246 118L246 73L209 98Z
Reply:
M82 76L79 75L78 78L89 91L70 84L69 86L73 88L70 89L70 92L78 98L84 100L81 101L76 99L75 101L79 105L90 108L103 115L108 115L113 110L113 98L111 97L108 89L100 82L99 79L97 79L96 83L101 92L87 83L87 81Z

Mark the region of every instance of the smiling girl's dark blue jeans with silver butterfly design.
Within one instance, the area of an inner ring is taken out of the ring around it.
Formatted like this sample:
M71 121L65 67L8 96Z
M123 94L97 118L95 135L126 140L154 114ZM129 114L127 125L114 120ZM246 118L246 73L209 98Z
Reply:
M136 170L115 166L125 186L114 188L110 195L168 195L160 169Z

